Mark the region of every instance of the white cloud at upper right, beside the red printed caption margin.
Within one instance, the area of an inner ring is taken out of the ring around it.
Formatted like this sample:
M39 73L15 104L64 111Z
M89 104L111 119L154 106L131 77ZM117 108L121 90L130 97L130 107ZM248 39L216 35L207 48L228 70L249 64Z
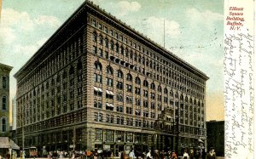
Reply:
M198 27L199 24L207 26L208 29L212 28L212 24L218 20L224 20L223 14L214 13L206 10L200 12L198 9L187 9L186 15L190 20L191 26Z

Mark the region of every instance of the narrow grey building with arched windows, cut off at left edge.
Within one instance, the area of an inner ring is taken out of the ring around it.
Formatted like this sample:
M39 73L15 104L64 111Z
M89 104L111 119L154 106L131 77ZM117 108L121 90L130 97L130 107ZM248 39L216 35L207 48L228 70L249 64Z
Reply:
M0 137L9 136L9 72L12 69L0 64Z

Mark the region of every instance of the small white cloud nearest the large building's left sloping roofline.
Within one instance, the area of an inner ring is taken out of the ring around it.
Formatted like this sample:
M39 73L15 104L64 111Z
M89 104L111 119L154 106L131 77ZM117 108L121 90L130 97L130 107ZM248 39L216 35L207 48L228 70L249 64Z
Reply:
M51 27L61 26L61 21L55 16L40 15L34 20L36 25L48 25Z

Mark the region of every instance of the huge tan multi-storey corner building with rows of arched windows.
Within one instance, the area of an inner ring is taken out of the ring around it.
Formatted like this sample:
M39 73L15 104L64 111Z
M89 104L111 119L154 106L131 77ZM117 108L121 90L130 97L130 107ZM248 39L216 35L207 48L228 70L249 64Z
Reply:
M142 151L206 141L208 77L88 1L15 78L18 145Z

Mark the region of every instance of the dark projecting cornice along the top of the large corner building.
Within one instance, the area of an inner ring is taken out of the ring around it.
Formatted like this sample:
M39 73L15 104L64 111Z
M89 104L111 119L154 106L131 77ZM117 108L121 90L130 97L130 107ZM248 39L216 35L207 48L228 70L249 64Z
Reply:
M154 49L156 52L161 54L162 56L165 56L167 59L172 60L173 62L176 62L178 65L182 66L183 68L193 72L195 75L201 77L204 80L208 80L209 77L202 71L196 69L193 65L190 65L188 62L182 60L181 58L177 57L177 55L172 54L172 52L166 50L166 48L163 48L158 43L154 43L150 38L143 36L142 33L139 33L135 29L131 28L131 26L126 25L121 20L116 19L113 15L108 14L104 9L100 9L99 6L96 6L95 4L91 3L90 1L85 1L79 9L77 9L65 22L64 24L57 30L55 33L49 37L49 40L44 43L44 45L38 49L37 53L32 56L30 60L26 62L25 65L23 65L19 71L15 73L15 78L20 77L20 73L22 71L27 71L29 66L32 64L34 60L37 60L40 54L44 53L44 50L46 50L48 47L51 46L51 44L55 41L57 37L60 36L60 34L65 31L65 29L68 26L71 26L73 23L73 20L77 19L79 14L85 13L91 13L96 14L96 16L100 16L104 20L108 20L113 26L118 27L125 33L131 35L131 37L136 38L140 43L144 43L145 45L148 45L149 48ZM34 68L33 68L34 69Z

